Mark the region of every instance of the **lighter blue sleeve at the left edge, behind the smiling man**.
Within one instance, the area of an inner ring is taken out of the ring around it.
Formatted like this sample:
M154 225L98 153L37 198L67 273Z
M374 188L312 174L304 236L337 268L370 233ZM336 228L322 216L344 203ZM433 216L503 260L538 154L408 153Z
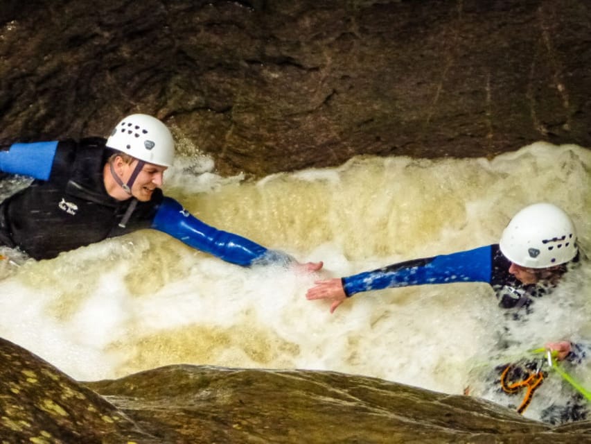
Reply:
M12 144L0 151L0 171L48 180L58 141Z

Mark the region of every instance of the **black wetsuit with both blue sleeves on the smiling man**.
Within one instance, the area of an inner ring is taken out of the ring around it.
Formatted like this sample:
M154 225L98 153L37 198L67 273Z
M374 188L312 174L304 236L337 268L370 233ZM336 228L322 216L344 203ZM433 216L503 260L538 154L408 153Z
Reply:
M203 223L159 188L148 202L112 198L103 169L115 151L105 142L94 137L0 149L0 171L35 178L0 203L0 244L35 259L51 259L63 251L152 228L240 266L294 261L281 251Z

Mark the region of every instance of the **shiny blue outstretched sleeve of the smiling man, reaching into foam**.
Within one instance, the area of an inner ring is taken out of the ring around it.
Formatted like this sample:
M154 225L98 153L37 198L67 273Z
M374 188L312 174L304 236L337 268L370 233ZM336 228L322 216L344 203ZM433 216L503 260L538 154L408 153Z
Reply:
M152 221L155 230L170 234L188 246L240 266L288 265L294 259L269 250L245 237L213 228L184 210L173 198L165 197Z

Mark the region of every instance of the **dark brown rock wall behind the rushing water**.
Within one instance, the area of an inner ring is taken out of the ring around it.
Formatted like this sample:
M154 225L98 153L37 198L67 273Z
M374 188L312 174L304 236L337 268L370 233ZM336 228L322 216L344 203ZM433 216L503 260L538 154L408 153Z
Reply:
M221 173L591 146L585 0L3 2L0 141L129 112Z

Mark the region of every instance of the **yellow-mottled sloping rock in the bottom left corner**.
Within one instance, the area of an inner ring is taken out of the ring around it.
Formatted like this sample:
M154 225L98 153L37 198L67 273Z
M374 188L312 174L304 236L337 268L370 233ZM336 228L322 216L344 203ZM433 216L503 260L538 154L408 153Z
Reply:
M159 442L94 391L0 339L0 443L140 441Z

